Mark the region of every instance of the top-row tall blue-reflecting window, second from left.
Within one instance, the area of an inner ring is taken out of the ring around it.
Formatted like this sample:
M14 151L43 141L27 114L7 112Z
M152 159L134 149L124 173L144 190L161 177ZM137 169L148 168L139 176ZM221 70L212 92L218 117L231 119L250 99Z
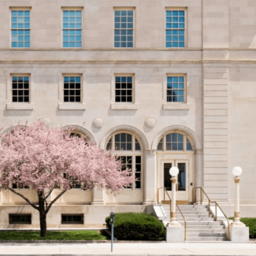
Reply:
M82 47L82 10L63 10L63 47Z

